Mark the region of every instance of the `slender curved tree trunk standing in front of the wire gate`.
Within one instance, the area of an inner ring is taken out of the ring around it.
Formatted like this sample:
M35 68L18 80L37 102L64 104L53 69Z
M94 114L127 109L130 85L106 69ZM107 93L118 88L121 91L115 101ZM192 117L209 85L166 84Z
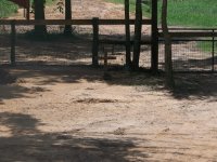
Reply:
M163 5L162 5L162 29L165 41L166 86L174 87L175 82L174 82L173 60L171 60L171 38L167 25L167 0L163 0Z

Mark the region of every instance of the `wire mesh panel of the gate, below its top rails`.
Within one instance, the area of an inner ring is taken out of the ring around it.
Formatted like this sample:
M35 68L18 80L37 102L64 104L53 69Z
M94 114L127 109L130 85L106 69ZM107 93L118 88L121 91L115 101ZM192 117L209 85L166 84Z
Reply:
M165 70L164 42L158 45L159 69ZM174 71L215 71L216 41L210 38L175 39L171 43Z

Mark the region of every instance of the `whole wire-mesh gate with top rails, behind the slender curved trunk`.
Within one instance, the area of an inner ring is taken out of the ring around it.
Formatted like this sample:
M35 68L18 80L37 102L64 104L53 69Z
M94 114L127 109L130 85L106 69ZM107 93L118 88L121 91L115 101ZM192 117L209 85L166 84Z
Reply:
M217 29L169 28L174 70L179 72L217 71ZM159 69L164 70L164 38L158 29Z

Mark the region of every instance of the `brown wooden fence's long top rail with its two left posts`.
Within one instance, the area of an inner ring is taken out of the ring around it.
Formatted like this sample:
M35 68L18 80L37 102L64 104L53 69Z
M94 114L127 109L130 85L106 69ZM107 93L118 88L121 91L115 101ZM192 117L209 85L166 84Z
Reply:
M130 19L130 25L135 24L135 19ZM143 19L143 25L151 25L151 19ZM92 65L98 66L98 51L99 44L99 26L101 25L125 25L125 19L99 19L94 17L92 19L46 19L46 21L25 21L25 19L0 19L0 25L11 26L11 65L15 65L15 45L16 45L16 26L29 26L29 25L84 25L92 26L93 38L92 38ZM116 43L115 40L110 40L110 43ZM123 44L125 42L122 42Z

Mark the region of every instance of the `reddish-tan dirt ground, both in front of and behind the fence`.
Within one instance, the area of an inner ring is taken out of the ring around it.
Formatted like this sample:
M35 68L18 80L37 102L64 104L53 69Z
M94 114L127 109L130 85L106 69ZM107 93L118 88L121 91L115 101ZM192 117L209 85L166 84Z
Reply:
M47 8L47 18L63 18L53 9ZM123 18L123 9L102 0L76 0L73 6L77 18ZM22 18L22 12L10 18ZM101 28L101 33L123 32L123 27ZM31 43L18 40L17 55L38 56L41 44ZM72 45L67 49L43 42L40 50L46 56L54 51L55 57L91 53L78 43L64 43ZM2 46L3 54L10 50ZM88 64L3 69L16 81L0 84L0 162L217 161L217 75L176 75L177 87L169 92L162 75L114 68L105 81L103 69Z

